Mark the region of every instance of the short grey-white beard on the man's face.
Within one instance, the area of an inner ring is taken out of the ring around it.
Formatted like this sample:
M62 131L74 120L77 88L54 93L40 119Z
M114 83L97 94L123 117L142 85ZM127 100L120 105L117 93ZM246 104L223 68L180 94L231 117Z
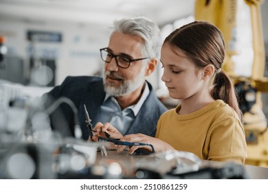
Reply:
M145 67L144 67L145 68ZM104 83L104 90L105 92L107 92L108 94L111 94L111 96L125 96L127 94L130 94L131 92L133 92L134 90L137 90L137 88L139 88L141 85L144 84L144 68L142 68L139 71L139 74L137 74L136 79L134 80L128 80L128 81L122 81L122 84L120 84L119 88L114 87L113 85L109 85L106 82L106 77L109 74L113 74L114 76L123 79L122 77L118 76L118 74L116 74L116 72L105 72L104 74L104 79L103 79L103 83Z

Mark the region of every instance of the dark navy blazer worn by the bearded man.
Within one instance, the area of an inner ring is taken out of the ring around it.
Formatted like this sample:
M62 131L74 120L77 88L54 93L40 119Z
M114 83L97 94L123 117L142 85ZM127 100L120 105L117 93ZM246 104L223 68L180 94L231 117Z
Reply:
M144 101L142 108L139 110L139 113L126 134L143 133L148 136L155 136L159 116L165 112L167 108L157 99L150 83L148 83L148 87L150 94L146 101ZM74 102L78 110L82 139L87 140L89 138L89 132L85 123L84 104L87 106L90 119L94 120L105 97L102 78L67 77L61 85L56 86L47 94L49 100L47 100L46 105L51 105L52 101L59 99L61 96L65 96ZM67 120L65 123L62 121L64 119ZM65 136L74 136L74 112L67 103L62 103L60 110L55 110L55 112L52 113L51 121L54 130L58 130Z

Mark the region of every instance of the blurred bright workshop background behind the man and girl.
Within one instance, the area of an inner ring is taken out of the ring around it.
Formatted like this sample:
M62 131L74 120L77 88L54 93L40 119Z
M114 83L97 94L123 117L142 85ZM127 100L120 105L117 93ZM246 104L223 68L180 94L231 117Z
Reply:
M107 46L113 21L138 16L155 21L163 40L194 20L210 21L223 31L224 70L243 99L246 163L268 167L267 0L0 0L0 133L27 129L27 101L65 77L101 77L99 49ZM179 101L169 98L158 67L148 81L173 108Z

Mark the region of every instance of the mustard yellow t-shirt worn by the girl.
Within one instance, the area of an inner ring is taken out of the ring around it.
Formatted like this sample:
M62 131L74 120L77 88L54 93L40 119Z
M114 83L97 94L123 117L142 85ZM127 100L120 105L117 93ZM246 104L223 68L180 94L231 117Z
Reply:
M158 139L204 160L245 162L245 130L229 105L216 100L186 115L177 114L179 108L181 105L161 115L157 123Z

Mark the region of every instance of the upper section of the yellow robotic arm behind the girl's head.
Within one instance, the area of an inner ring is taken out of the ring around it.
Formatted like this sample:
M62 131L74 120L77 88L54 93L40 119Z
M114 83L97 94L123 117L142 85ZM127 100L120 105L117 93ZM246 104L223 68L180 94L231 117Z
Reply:
M251 78L263 80L265 67L265 47L263 43L263 29L260 17L260 3L258 0L197 0L195 3L195 19L214 23L222 32L225 38L226 59L223 70L231 77L237 77L234 72L234 61L232 56L239 54L236 48L237 38L237 17L239 17L238 6L241 1L250 8L252 26L252 47L254 60L252 65ZM264 90L263 88L260 88ZM266 90L268 92L268 89Z

